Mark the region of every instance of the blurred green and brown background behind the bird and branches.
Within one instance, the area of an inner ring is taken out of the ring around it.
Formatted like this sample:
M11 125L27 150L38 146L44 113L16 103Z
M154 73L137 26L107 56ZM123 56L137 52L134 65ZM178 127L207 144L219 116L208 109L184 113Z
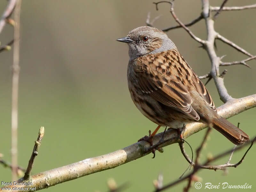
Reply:
M155 10L153 1L22 1L19 90L19 165L26 167L40 126L45 135L32 172L38 173L71 164L85 158L99 156L126 147L144 136L156 124L145 118L134 106L126 82L128 47L116 41L133 28L145 25L148 12L152 18L161 14L155 27L176 25L169 12L169 5L160 4ZM222 1L210 1L219 6ZM0 2L1 13L6 1ZM253 4L255 1L229 1L227 6ZM201 1L176 1L175 11L187 23L198 17ZM255 51L255 9L222 12L215 28L248 52ZM191 30L199 37L206 37L204 21ZM210 69L207 53L183 29L167 32L179 51L198 75ZM0 35L2 44L13 37L13 28L6 26ZM227 55L224 61L247 58L229 46L217 41L218 56ZM2 52L0 65L0 153L11 161L11 65L12 51ZM249 61L252 69L241 65L228 69L225 84L235 98L255 94L256 61ZM205 82L205 80L204 80ZM213 81L207 85L216 106L222 102ZM255 135L255 109L230 119L251 137ZM194 152L205 130L187 141ZM203 156L215 155L233 147L220 133L213 130ZM189 149L186 147L189 151ZM245 150L245 149L244 149ZM238 161L244 151L235 153L232 162ZM50 191L108 191L107 180L114 178L118 185L128 182L125 191L153 191L152 181L159 173L164 184L178 179L188 163L181 155L178 144L124 164L115 169L95 173L47 189ZM225 163L228 157L217 163ZM255 148L237 168L223 171L201 170L197 176L202 182L215 185L222 182L255 185ZM0 165L0 180L11 180L11 171ZM166 191L182 191L183 182ZM203 189L200 189L203 191ZM221 190L221 189L218 189ZM234 190L234 189L233 189ZM233 191L232 190L232 191ZM191 191L197 191L192 187Z

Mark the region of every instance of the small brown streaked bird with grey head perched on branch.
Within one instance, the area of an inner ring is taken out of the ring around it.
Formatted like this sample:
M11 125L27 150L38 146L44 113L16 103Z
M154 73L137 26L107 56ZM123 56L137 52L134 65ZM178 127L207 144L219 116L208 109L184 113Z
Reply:
M158 125L148 138L160 127L180 129L201 122L235 145L249 140L245 132L218 115L210 93L162 30L142 26L117 41L129 45L127 81L132 101Z

